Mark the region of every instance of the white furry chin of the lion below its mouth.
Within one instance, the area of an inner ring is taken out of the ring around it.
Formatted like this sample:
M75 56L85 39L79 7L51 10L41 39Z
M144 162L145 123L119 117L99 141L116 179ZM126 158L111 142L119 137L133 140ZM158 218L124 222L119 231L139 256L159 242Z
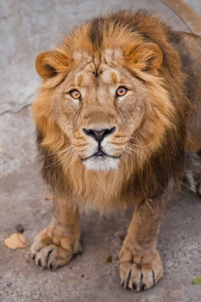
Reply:
M83 161L86 170L105 171L117 170L120 160L110 156L90 157Z

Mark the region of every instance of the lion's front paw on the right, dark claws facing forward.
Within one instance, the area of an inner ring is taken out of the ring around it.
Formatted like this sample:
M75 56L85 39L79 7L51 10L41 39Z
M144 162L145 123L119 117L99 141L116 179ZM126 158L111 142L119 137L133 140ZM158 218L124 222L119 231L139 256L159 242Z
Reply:
M148 289L157 284L159 279L163 276L163 267L160 255L157 251L155 253L140 257L139 255L132 255L130 251L125 251L130 257L130 261L121 261L120 254L120 276L121 285L126 289L130 288L133 291L141 291ZM124 255L125 258L125 255ZM123 258L123 260L124 260ZM135 263L137 260L138 263ZM140 262L139 262L140 260Z

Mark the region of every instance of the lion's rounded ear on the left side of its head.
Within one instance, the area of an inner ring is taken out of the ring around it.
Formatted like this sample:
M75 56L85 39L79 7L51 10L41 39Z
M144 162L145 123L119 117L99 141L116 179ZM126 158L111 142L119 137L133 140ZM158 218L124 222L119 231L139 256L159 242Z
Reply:
M42 79L66 72L69 57L62 50L43 51L36 58L36 71Z

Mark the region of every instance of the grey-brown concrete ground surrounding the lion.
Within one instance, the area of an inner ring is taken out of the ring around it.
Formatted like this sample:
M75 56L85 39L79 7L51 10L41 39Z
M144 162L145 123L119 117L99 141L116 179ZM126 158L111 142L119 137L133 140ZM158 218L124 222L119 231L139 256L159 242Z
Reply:
M199 0L188 3L201 13ZM184 192L174 202L158 241L164 276L148 291L133 293L120 286L118 252L130 214L82 217L84 252L55 272L41 270L30 257L34 236L49 222L51 200L35 165L35 129L29 115L40 79L36 55L51 49L74 25L112 9L157 10L175 29L182 21L157 0L8 0L0 4L0 301L2 302L192 302L201 301L200 199ZM24 226L26 249L10 250L4 239ZM112 256L112 263L105 264Z

